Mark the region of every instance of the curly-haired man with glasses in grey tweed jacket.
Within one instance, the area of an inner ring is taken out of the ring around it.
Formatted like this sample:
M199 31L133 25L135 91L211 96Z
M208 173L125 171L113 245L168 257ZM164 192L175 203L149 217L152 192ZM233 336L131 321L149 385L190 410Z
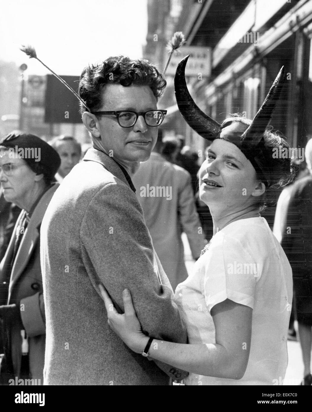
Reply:
M124 346L107 325L98 288L120 311L128 288L146 333L186 342L131 180L156 144L165 84L147 61L123 56L81 73L79 95L90 109L81 104L82 121L93 147L63 180L41 231L46 384L167 385L183 376L149 361L149 348L142 356Z

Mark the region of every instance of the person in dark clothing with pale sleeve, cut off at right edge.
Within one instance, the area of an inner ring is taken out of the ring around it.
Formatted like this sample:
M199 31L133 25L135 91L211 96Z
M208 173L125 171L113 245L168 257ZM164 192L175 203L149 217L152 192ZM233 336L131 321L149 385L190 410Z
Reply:
M312 140L305 147L308 176L286 187L279 198L275 235L293 270L296 314L304 364L304 385L312 385Z

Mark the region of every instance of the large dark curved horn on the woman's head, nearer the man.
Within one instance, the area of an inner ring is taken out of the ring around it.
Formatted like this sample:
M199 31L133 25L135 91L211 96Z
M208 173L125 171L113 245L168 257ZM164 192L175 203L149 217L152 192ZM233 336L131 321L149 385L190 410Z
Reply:
M221 125L206 115L193 101L185 81L185 66L189 56L180 61L175 72L175 98L178 108L186 120L200 136L213 140L218 135Z

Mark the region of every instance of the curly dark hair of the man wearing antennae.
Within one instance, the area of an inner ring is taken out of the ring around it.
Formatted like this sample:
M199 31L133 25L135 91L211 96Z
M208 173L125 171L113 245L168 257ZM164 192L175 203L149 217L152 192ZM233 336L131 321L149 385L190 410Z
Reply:
M127 87L131 84L149 86L158 99L166 87L166 81L155 66L147 60L131 60L126 56L109 57L98 64L91 64L82 70L79 82L79 96L91 112L102 106L102 90L106 84L119 83ZM86 108L80 103L80 113Z

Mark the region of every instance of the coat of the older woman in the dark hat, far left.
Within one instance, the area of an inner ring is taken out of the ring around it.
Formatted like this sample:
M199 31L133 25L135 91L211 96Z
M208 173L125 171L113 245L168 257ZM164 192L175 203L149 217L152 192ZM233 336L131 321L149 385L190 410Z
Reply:
M40 267L40 225L49 201L58 187L55 183L45 192L33 214L21 239L11 271L11 260L14 251L16 231L19 230L25 211L21 211L16 221L14 231L0 264L0 304L20 302L21 318L28 336L29 367L33 379L43 382L45 316ZM19 376L21 367L21 333L20 330L10 331L12 342L12 361L15 376Z

